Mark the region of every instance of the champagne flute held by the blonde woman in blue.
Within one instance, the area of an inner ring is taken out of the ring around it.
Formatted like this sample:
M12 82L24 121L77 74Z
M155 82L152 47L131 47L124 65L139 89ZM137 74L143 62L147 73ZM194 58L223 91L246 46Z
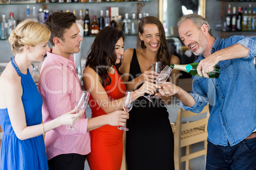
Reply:
M80 96L80 100L76 103L76 114L78 114L81 110L85 110L88 100L89 100L90 93L87 91L82 91L82 95ZM74 125L66 126L69 131L76 131Z

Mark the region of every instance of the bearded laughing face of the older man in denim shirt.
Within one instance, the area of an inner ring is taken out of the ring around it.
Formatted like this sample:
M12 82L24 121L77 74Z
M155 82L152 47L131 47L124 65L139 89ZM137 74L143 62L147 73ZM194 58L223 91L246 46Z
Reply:
M191 20L187 19L178 28L181 41L194 55L203 55L207 47L207 39L201 29L198 29Z

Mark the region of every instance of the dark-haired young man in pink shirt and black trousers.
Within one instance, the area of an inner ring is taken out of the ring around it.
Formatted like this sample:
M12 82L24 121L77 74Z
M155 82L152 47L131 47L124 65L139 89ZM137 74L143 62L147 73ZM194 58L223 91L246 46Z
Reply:
M45 25L51 31L53 47L42 64L38 86L43 98L43 122L48 122L75 108L80 98L82 88L72 54L80 51L83 38L73 13L53 13ZM74 125L76 131L66 126L48 131L45 147L49 169L84 169L90 152L89 131L105 124L122 126L128 118L128 113L121 110L92 119L83 114Z

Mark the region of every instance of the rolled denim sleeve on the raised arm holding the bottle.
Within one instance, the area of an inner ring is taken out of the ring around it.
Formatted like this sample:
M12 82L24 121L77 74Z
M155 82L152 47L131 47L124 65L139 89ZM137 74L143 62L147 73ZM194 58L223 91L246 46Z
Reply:
M239 40L237 43L238 44L242 44L243 46L245 46L246 48L248 48L249 51L249 55L244 58L244 59L252 59L252 58L256 58L256 37L245 37L244 39Z

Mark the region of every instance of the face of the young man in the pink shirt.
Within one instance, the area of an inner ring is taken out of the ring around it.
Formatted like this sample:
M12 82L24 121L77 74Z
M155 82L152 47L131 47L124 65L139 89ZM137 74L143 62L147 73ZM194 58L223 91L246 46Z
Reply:
M62 56L68 58L72 53L78 53L80 51L80 42L83 37L79 34L80 30L76 23L73 23L70 29L65 30L63 37L64 41L61 41Z

